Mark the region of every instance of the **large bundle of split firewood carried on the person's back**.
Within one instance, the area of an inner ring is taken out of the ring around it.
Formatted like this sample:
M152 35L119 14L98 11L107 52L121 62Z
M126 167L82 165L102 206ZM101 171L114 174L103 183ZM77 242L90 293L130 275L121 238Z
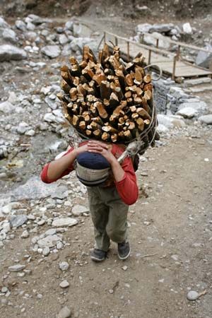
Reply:
M151 75L143 69L142 54L124 63L119 47L107 44L98 59L88 46L83 59L69 59L61 67L61 88L57 94L66 119L83 137L112 143L129 143L143 136L153 146L156 114Z

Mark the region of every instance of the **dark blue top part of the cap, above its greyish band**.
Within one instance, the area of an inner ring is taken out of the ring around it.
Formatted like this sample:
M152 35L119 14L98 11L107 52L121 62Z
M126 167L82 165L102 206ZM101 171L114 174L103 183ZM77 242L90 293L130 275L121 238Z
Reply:
M110 163L100 153L80 153L76 157L77 162L88 169L101 170L110 167Z

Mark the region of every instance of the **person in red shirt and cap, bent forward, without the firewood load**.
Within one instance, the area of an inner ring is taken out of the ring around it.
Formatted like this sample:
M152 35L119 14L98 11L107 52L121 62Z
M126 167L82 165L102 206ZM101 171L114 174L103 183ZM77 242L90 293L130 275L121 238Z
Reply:
M95 248L90 255L93 261L107 257L110 240L117 243L119 259L130 254L127 213L129 205L138 199L139 189L131 158L126 157L121 164L117 160L124 150L120 144L85 141L47 163L41 172L42 181L51 183L76 170L78 179L87 186L95 232Z

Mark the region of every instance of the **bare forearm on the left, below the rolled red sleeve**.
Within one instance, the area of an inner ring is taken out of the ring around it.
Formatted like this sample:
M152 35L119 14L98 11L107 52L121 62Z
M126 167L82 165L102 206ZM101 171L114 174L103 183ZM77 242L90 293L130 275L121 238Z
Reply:
M47 172L48 179L58 179L63 172L68 169L73 161L76 159L77 151L76 149L73 149L71 153L68 153L67 155L64 155L64 157L61 157L57 160L52 161L52 163L49 163L49 168Z

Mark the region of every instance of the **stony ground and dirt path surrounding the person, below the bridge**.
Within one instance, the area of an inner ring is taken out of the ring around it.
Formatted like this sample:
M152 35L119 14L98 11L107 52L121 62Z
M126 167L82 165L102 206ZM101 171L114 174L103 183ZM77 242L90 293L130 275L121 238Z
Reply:
M90 261L86 188L74 173L40 182L42 165L73 135L56 98L59 67L71 54L80 59L86 43L95 49L103 29L100 20L78 20L0 18L1 317L209 318L210 90L194 93L193 84L165 78L155 84L161 140L140 158L129 260L120 262L112 244L104 263ZM114 31L123 35L126 24L119 19ZM179 34L204 45L199 31Z

